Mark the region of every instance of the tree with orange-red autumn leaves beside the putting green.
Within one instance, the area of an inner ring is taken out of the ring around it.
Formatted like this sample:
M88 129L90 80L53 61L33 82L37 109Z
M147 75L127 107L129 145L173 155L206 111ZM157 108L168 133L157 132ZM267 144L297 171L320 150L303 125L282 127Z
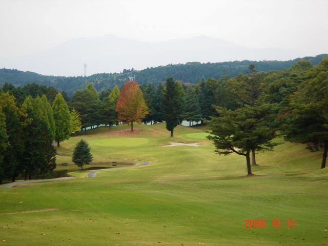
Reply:
M141 124L141 120L149 113L136 81L124 84L117 99L116 111L118 112L118 121L131 124L131 131L133 131L133 122Z

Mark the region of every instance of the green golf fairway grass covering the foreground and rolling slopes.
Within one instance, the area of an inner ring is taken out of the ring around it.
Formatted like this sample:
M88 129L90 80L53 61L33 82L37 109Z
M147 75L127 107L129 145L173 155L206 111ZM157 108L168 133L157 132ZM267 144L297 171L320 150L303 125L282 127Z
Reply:
M71 155L84 138L95 162L152 163L95 178L0 189L0 243L328 244L328 171L320 170L322 153L276 139L283 144L259 153L255 175L247 177L244 157L216 155L204 129L178 126L169 137L164 124L137 125L134 133L117 126L61 143L57 151ZM176 141L200 145L162 147ZM70 158L58 156L57 162L71 163ZM264 219L265 228L245 228L245 219ZM272 228L272 219L280 219L281 227ZM295 228L286 228L286 219L295 219Z

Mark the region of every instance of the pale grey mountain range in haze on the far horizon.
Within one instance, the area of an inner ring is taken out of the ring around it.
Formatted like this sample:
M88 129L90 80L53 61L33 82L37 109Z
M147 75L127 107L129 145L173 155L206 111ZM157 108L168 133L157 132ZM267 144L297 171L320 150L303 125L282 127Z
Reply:
M81 76L84 75L83 64L87 64L87 75L91 75L192 61L217 63L245 59L290 60L297 57L293 51L245 48L208 36L151 43L106 35L73 38L39 53L0 58L0 68L33 71L43 75Z

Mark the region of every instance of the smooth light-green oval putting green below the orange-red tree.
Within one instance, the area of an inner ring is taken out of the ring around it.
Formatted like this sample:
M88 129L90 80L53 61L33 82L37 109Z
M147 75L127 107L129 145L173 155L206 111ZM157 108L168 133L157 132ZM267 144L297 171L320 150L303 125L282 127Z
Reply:
M149 138L142 137L124 137L124 138L106 138L91 142L92 146L138 146L149 144Z

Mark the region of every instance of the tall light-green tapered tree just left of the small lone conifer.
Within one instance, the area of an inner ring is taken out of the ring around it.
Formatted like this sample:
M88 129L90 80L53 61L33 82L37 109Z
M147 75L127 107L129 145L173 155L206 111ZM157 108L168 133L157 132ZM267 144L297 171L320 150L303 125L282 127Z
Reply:
M53 117L56 126L55 141L57 147L59 142L69 139L71 135L71 114L63 96L58 93L52 105Z

